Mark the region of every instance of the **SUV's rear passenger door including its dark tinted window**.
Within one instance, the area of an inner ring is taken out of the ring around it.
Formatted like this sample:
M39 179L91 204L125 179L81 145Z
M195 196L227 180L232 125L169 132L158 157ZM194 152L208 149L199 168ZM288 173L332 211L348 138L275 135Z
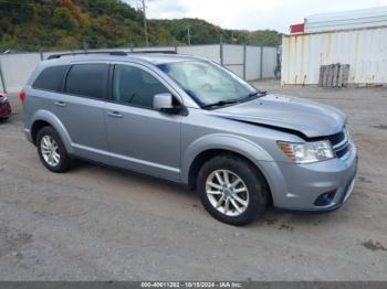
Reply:
M72 64L54 111L70 135L76 156L108 162L104 105L108 63Z

